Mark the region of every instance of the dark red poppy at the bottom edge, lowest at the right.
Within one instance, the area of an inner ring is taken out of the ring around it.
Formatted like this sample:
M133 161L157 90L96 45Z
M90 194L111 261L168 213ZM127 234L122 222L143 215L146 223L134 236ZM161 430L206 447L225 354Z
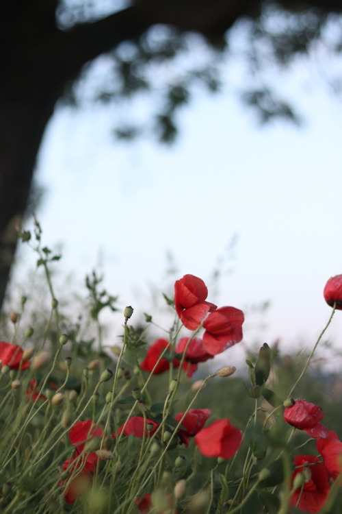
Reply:
M298 455L294 458L295 471L293 480L298 473L304 476L304 485L291 495L290 504L300 511L316 513L321 510L328 496L329 477L324 464L314 455Z

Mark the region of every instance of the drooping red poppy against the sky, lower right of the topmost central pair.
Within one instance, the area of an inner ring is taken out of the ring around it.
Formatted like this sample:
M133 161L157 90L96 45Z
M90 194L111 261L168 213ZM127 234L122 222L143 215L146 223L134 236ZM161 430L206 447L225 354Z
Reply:
M220 307L211 313L205 321L203 327L203 345L205 350L211 355L220 354L226 348L242 339L242 323L245 317L242 310L235 307Z

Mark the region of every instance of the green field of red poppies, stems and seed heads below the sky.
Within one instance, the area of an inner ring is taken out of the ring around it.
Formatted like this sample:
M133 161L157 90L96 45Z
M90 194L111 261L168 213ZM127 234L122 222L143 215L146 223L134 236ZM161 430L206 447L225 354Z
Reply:
M119 343L105 347L98 317L117 310L116 297L93 273L88 310L65 333L51 278L59 256L42 246L38 221L20 235L38 254L49 315L28 326L34 293L23 296L0 336L1 513L342 512L340 393L313 364L342 310L342 276L326 283L331 315L310 354L263 343L236 372L229 348L243 339L244 313L228 298L211 303L201 278L161 291L169 326L154 313L135 326L127 306ZM98 330L86 339L89 319ZM218 354L226 365L215 369Z

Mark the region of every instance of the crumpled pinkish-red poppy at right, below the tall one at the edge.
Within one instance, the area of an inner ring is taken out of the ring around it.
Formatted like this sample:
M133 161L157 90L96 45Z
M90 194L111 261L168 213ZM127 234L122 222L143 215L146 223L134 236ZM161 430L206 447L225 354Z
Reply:
M319 423L323 417L321 407L306 400L295 400L293 406L284 411L284 419L289 425L305 430L311 437L328 436L328 428Z

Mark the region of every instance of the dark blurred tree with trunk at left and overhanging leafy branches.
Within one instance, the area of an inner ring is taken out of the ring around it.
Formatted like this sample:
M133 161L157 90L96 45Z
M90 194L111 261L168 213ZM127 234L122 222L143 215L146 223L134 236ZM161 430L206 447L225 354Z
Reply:
M120 0L111 4L111 12L98 0L13 0L0 5L0 306L44 130L57 101L77 101L75 84L88 63L109 54L113 73L94 97L111 101L142 90L152 94L154 78L146 73L148 66L156 70L189 51L193 34L220 60L222 53L229 54L227 37L237 23L248 24L245 57L254 71L262 70L269 59L287 66L317 41L334 52L342 47L341 0L132 0L123 8ZM327 37L331 23L333 37ZM195 82L217 90L218 70L209 62L202 69L187 69L181 79L165 78L163 102L153 119L159 140L170 142L176 135L176 111L187 103ZM291 102L265 84L249 84L241 98L257 109L261 121L298 121ZM116 136L133 138L143 129L122 124Z

